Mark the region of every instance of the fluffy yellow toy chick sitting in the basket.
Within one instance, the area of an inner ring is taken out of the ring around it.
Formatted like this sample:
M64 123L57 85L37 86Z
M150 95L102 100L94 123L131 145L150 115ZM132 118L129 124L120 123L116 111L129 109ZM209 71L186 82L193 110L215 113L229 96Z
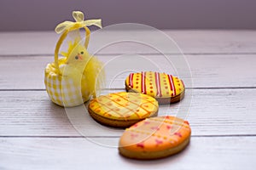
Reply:
M73 78L77 87L81 87L82 92L87 92L86 96L96 97L96 91L104 84L104 72L102 62L88 53L87 49L79 43L79 38L74 42L69 42L67 53L61 53L64 62L60 65L63 77Z

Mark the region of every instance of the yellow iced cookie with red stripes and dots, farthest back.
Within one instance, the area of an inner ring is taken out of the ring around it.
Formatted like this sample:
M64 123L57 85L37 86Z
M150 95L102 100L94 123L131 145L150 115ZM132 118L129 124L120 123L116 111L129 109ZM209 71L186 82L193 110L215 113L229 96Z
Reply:
M125 89L129 92L148 94L160 104L175 103L183 99L185 94L181 79L152 71L131 73L125 80Z

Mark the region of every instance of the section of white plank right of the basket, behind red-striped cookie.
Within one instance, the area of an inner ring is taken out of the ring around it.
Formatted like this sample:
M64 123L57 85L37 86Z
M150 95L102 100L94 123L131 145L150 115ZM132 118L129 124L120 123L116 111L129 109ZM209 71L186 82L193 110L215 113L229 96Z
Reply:
M176 75L183 79L187 88L256 86L254 55L186 55L184 59L183 56L173 55L131 54L100 59L105 61L107 88L124 88L125 78L134 71L160 71Z

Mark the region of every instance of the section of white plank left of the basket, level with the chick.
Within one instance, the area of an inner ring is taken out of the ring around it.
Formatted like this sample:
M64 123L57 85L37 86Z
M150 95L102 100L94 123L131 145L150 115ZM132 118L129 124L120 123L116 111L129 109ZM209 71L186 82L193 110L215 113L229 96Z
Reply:
M45 57L0 57L1 89L44 88Z

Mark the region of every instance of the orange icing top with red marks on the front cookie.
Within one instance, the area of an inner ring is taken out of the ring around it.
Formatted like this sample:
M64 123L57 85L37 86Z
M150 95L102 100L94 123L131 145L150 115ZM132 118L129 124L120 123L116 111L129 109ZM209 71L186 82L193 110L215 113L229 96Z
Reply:
M189 122L175 116L145 119L127 128L119 140L126 150L166 150L183 143L190 137Z

